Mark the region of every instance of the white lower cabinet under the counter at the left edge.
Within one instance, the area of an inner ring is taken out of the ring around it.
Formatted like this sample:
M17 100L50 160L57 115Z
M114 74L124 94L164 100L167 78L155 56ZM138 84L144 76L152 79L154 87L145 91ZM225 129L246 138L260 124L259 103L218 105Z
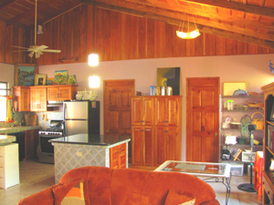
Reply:
M19 184L18 144L0 146L0 188Z

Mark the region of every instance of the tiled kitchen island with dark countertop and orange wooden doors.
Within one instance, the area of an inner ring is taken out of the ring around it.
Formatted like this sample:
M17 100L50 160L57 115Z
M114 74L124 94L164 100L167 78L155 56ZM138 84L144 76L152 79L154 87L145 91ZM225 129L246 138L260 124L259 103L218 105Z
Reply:
M49 141L54 146L55 182L70 169L85 166L128 168L130 136L78 134Z

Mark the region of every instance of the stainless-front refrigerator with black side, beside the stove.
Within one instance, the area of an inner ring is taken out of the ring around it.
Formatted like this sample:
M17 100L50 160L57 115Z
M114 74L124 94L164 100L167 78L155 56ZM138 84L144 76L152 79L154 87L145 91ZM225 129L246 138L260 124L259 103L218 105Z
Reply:
M64 101L64 136L100 134L100 101Z

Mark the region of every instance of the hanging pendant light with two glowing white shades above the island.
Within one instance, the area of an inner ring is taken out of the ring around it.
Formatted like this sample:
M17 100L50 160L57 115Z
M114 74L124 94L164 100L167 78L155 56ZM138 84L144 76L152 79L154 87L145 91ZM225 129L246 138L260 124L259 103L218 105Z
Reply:
M99 65L99 56L98 54L94 54L95 47L95 4L93 1L93 54L89 55L89 66L93 67L94 75L93 77L89 77L89 87L100 87L100 77L95 76L95 67Z

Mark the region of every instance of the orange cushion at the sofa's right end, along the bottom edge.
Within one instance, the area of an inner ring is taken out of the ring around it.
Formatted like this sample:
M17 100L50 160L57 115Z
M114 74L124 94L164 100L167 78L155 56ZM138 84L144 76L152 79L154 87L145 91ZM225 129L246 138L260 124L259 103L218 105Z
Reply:
M178 194L174 190L168 190L164 205L193 205L195 198L189 195Z

